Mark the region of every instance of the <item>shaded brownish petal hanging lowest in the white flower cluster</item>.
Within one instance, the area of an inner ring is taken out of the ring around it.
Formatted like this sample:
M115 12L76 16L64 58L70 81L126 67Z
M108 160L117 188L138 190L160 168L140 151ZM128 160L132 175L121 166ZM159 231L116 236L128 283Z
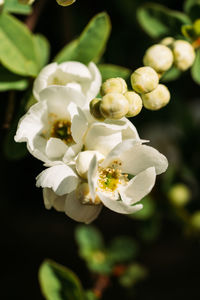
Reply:
M86 224L94 221L98 217L101 209L102 205L82 204L77 197L76 191L70 193L65 202L66 215L77 222L84 222Z

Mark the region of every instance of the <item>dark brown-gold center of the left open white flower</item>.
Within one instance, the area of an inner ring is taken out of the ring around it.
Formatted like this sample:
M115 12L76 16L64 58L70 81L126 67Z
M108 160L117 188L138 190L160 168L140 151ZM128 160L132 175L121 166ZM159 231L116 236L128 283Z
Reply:
M57 120L51 128L51 137L59 138L66 144L74 142L71 132L71 122L67 120Z

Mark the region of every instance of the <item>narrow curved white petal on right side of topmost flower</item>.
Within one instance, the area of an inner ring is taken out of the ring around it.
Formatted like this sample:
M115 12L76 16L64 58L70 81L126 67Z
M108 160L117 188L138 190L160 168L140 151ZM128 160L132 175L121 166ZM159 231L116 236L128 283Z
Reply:
M92 100L95 98L101 87L101 73L99 72L99 69L96 67L96 65L93 62L90 62L88 65L88 69L90 70L90 73L92 75L92 80L90 87L86 93L88 101Z

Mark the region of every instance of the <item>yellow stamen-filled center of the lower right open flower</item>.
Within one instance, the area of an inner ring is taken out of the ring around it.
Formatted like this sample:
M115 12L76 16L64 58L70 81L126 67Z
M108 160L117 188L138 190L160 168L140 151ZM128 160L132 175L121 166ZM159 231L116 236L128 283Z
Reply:
M106 192L114 192L118 185L127 184L128 174L122 174L120 169L121 163L114 161L107 168L99 168L98 186Z

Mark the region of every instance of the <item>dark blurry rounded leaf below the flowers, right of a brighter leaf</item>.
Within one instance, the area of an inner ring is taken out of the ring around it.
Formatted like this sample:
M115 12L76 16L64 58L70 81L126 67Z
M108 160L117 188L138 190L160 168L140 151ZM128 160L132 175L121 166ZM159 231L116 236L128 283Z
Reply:
M118 236L108 248L109 260L112 263L123 263L132 260L138 253L137 243L129 237Z

